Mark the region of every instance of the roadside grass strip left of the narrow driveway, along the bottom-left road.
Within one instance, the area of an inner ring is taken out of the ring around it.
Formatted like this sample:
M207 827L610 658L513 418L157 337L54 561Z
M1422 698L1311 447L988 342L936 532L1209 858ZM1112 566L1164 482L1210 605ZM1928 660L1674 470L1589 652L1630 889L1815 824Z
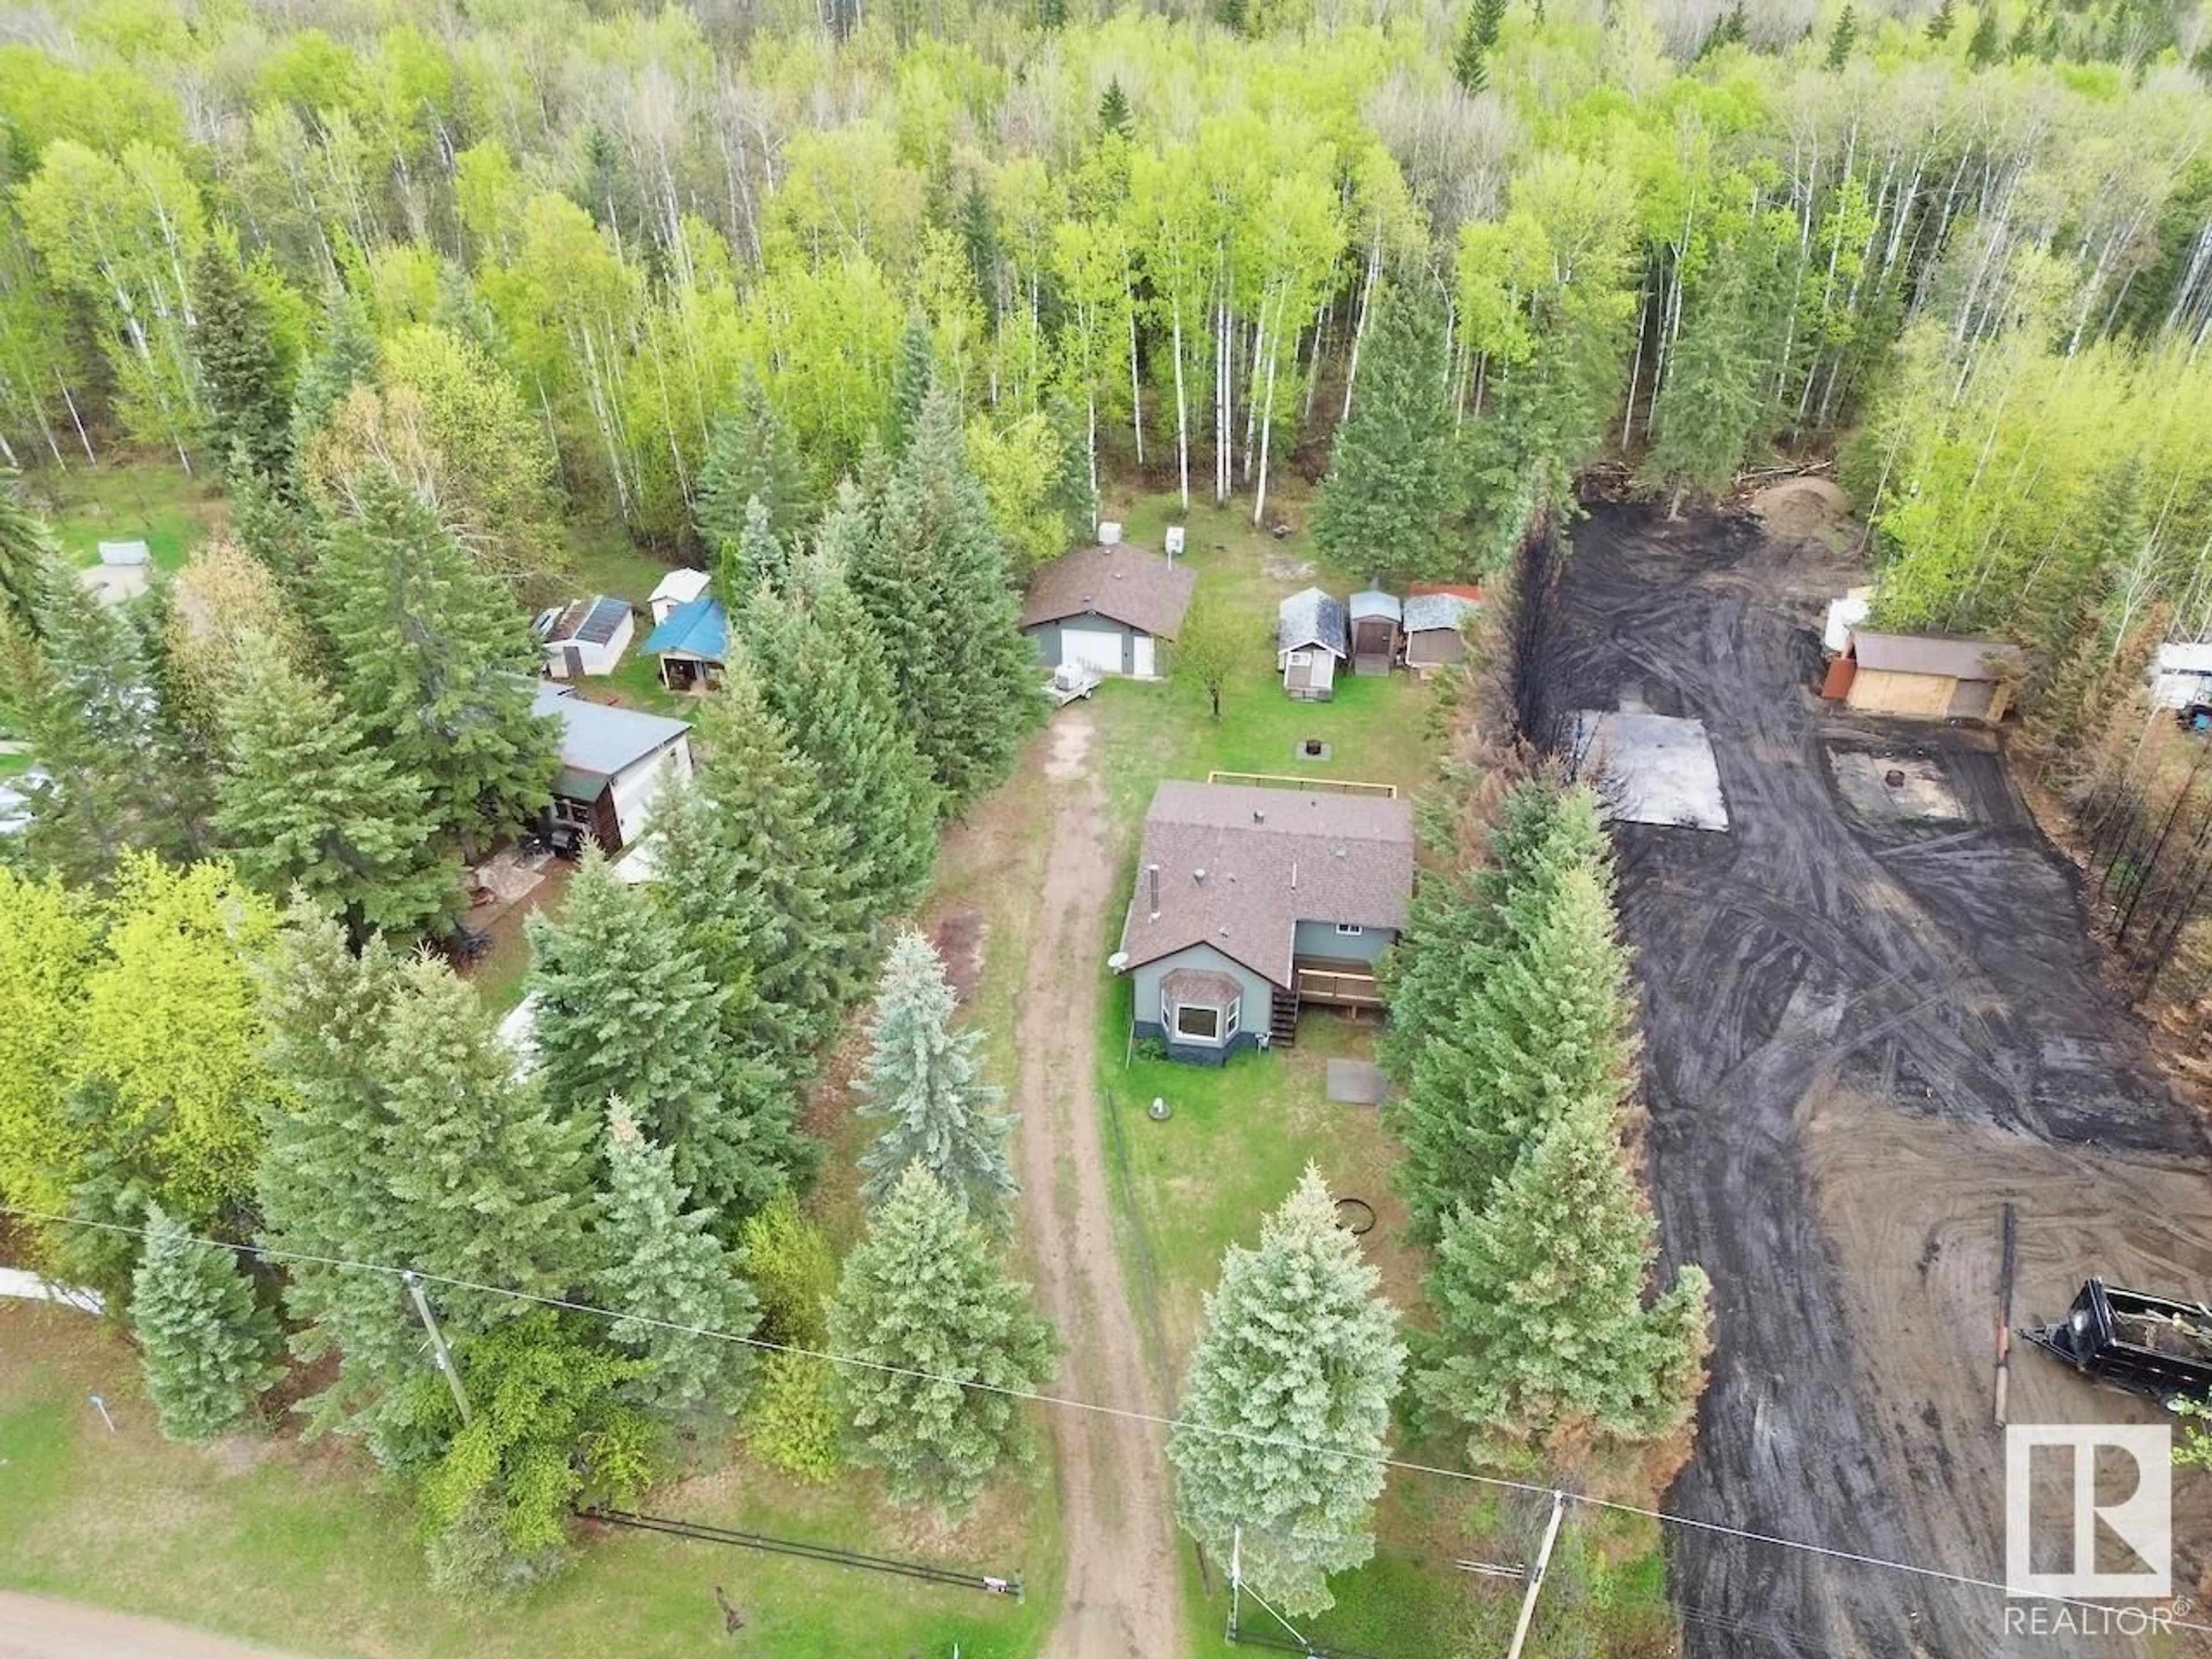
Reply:
M100 1391L119 1433L84 1405ZM867 1480L830 1489L750 1464L659 1493L650 1513L936 1559L1011 1577L1057 1559L1046 1493L1002 1486L958 1533L887 1513ZM323 1442L177 1447L153 1433L128 1345L40 1303L0 1307L0 1586L206 1624L294 1655L639 1659L721 1650L712 1586L776 1659L1035 1652L1055 1586L1015 1604L757 1551L613 1533L509 1601L422 1586L414 1513L354 1451Z

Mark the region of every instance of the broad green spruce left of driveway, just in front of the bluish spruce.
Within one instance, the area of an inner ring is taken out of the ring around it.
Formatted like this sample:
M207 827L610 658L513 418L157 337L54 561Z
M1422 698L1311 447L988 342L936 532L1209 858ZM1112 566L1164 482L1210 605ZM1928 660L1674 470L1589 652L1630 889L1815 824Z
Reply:
M982 1228L918 1166L869 1219L830 1301L854 1462L896 1504L960 1517L1004 1462L1029 1462L1022 1400L1053 1374L1053 1327Z

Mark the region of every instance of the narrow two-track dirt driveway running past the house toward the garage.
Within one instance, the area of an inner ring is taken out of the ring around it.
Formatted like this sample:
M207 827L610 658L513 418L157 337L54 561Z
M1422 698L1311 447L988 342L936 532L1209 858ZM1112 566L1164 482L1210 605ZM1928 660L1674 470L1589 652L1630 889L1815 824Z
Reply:
M1093 737L1086 710L1062 712L1042 776L1013 785L1051 799L1015 1022L1015 1150L1037 1294L1066 1345L1064 1391L1157 1411L1166 1402L1121 1272L1099 1124L1102 940L1119 865ZM1181 1593L1166 1436L1088 1411L1053 1411L1051 1433L1068 1579L1046 1659L1172 1659L1181 1650Z

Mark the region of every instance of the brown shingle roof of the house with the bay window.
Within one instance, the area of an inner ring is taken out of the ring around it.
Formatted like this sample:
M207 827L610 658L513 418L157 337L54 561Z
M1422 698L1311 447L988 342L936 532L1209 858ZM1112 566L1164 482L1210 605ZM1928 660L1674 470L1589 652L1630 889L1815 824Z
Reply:
M1121 951L1144 967L1212 945L1287 987L1298 922L1402 929L1411 898L1409 801L1170 781L1144 818Z

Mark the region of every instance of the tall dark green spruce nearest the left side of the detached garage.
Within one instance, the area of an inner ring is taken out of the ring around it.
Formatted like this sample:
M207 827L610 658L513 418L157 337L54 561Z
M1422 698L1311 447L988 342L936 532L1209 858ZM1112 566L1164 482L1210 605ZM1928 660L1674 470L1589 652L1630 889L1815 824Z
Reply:
M825 544L845 535L841 495ZM858 538L854 538L858 540ZM883 639L907 730L953 810L1013 770L1042 719L1037 653L1022 639L1006 553L967 465L960 407L929 392L852 586Z

